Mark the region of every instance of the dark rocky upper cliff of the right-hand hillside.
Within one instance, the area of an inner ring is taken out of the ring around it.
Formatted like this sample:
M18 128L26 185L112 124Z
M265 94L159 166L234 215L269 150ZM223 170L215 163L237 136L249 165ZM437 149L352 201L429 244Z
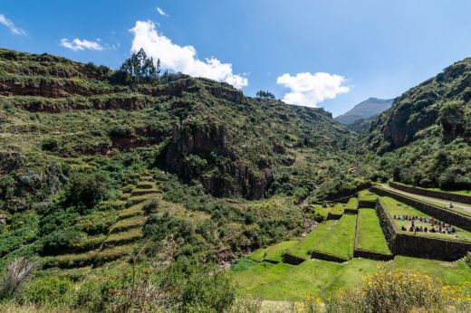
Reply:
M442 140L470 142L471 59L447 67L397 98L373 121L368 144L380 152L404 147L431 128Z

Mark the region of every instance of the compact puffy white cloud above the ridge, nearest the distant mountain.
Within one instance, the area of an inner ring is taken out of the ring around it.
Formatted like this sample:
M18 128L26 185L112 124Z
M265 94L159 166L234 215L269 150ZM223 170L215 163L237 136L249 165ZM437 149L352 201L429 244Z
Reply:
M291 92L284 95L284 102L299 106L316 107L323 100L334 99L341 93L350 91L350 87L343 86L345 78L341 75L317 72L297 73L295 76L284 74L276 83L289 88Z

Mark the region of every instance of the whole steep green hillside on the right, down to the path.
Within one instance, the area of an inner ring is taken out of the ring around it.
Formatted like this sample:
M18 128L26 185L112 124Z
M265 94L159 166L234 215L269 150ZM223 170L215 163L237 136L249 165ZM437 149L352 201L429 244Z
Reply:
M371 123L364 147L376 168L408 184L471 188L471 58L394 100ZM373 166L374 167L374 166Z

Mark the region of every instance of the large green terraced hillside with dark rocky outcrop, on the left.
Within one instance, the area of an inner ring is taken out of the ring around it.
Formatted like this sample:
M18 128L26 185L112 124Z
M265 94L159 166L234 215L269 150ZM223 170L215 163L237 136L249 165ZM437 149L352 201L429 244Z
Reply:
M0 266L96 267L145 242L155 257L172 234L178 257L233 260L301 235L306 199L366 185L355 139L226 83L0 49Z

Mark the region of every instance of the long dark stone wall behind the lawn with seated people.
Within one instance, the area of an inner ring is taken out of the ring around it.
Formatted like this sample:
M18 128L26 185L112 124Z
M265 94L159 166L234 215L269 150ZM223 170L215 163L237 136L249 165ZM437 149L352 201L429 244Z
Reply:
M451 210L443 209L436 205L426 204L424 202L418 201L416 199L410 198L407 195L398 194L391 192L389 190L380 189L377 187L371 187L370 189L375 194L380 194L383 196L390 196L391 198L398 200L404 204L408 204L419 211L431 215L437 218L440 221L450 223L454 226L462 228L468 232L471 232L471 217Z

